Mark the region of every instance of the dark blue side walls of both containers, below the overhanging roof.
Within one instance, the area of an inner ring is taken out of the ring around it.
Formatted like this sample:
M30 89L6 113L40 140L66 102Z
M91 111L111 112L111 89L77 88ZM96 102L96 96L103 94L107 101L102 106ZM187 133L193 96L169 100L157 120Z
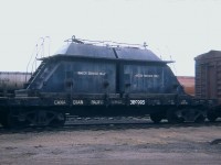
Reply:
M165 64L67 57L45 66L28 89L73 94L183 94Z

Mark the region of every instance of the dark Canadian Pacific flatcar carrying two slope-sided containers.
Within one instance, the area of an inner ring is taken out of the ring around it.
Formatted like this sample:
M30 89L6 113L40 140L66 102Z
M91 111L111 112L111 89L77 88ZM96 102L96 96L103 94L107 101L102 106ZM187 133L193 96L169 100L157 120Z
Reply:
M1 123L63 125L77 117L150 116L154 122L203 121L215 101L187 95L168 63L146 46L72 37L42 63L14 98L0 98Z

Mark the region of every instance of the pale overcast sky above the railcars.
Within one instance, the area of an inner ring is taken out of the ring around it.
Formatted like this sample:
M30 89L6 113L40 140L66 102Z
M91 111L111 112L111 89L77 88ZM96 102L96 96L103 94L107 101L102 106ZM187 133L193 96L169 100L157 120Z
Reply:
M221 51L220 18L221 0L0 0L0 72L30 72L31 56L75 35L146 42L175 75L194 76L196 56Z

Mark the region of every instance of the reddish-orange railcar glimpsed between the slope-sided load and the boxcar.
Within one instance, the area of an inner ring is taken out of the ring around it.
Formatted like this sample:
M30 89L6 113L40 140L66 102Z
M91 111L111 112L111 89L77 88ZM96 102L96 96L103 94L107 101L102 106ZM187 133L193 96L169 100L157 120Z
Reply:
M182 85L187 94L194 96L194 77L193 76L177 76L177 79Z

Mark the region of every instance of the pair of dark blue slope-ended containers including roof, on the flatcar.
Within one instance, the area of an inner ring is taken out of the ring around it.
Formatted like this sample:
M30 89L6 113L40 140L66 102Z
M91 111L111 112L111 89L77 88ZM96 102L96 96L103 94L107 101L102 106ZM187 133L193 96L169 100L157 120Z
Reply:
M151 51L71 43L43 59L28 89L74 94L183 94Z

